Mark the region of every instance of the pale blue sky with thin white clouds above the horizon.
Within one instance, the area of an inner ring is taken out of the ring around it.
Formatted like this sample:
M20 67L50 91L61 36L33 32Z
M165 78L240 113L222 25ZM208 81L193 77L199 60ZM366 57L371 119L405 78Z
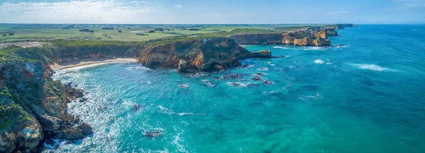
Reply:
M0 23L425 23L425 0L0 0Z

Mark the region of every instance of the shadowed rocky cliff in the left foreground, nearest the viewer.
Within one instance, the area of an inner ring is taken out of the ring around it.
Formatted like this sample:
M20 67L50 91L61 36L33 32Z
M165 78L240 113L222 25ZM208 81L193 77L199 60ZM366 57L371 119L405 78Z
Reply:
M77 123L67 114L64 85L41 61L0 63L0 70L0 152L23 147L19 137L35 149L47 133L55 136Z

